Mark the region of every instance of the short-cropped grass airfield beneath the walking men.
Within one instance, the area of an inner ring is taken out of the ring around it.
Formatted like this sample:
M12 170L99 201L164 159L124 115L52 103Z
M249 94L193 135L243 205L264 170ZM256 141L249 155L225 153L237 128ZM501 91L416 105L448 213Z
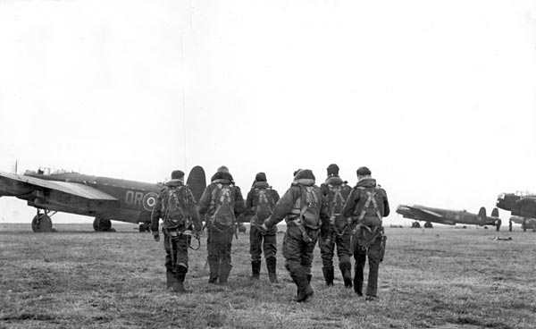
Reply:
M323 284L319 250L314 298L296 286L251 282L248 235L233 242L227 286L207 283L205 239L190 250L186 295L165 291L163 245L134 225L92 232L91 224L0 224L0 328L535 328L536 233L386 228L379 297L365 302ZM513 240L492 240L494 236ZM366 275L366 274L365 274Z

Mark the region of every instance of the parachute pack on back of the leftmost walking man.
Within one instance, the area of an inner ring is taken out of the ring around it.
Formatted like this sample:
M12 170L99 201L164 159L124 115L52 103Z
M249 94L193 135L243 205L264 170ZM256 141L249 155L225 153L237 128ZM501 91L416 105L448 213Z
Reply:
M176 229L182 224L188 226L188 195L184 186L167 190L166 198L162 202L163 227Z

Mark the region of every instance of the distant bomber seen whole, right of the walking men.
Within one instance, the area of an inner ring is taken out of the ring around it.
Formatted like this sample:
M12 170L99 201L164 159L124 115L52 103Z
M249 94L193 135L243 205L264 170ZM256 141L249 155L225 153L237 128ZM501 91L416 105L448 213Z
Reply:
M498 209L494 208L491 216L486 215L486 208L482 207L478 213L468 213L466 210L448 210L432 207L424 207L418 205L399 205L397 213L404 218L415 219L416 221L426 222L424 227L432 227L431 223L456 225L496 225L499 222ZM417 225L416 227L420 227Z

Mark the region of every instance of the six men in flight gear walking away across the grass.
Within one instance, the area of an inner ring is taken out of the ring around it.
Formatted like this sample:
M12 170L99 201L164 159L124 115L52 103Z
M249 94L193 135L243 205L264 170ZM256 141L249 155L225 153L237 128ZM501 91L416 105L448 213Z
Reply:
M283 239L285 267L297 285L297 301L314 294L311 267L316 242L322 255L322 274L328 286L333 285L333 255L337 247L339 269L345 287L363 295L364 265L368 256L369 277L365 291L367 300L377 297L378 269L385 250L382 217L389 215L385 190L376 185L371 171L357 169L357 184L352 189L339 177L339 167L329 165L328 177L321 187L315 185L314 174L298 169L292 184L280 198L257 173L244 202L227 167L218 169L205 188L197 206L192 192L184 184L184 173L172 172L172 180L158 196L153 209L151 232L160 240L159 221L163 219L163 246L166 251L167 287L183 293L188 272L188 244L193 235L202 232L201 218L208 231L206 244L209 283L227 283L231 266L231 243L237 218L249 220L252 279L259 279L262 253L269 280L277 283L276 225L283 219L287 231ZM352 280L350 257L356 260Z

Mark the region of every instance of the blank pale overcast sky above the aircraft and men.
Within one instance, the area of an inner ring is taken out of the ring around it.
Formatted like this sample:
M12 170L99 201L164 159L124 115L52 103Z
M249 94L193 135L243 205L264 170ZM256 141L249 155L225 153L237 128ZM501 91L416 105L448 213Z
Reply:
M0 171L227 165L282 194L297 168L366 165L389 221L536 190L533 1L0 0L0 45ZM34 213L0 199L4 222Z

